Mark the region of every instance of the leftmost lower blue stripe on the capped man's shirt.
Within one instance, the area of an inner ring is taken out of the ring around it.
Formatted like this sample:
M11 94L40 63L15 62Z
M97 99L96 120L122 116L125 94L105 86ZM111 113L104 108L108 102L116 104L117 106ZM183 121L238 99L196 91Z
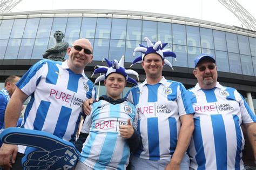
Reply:
M193 132L194 148L196 149L196 160L198 169L205 169L206 159L203 145L203 138L201 133L200 117L194 118L194 132Z

